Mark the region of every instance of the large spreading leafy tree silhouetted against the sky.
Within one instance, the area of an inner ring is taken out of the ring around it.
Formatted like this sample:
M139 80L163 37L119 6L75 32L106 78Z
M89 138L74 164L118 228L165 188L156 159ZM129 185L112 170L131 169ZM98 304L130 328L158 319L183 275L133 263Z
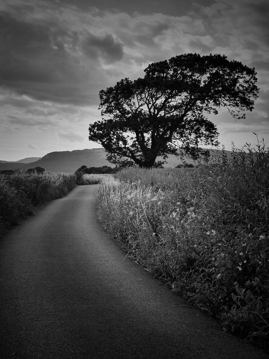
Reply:
M90 124L89 140L104 147L111 163L152 167L168 154L197 159L200 144L218 144L206 115L226 107L235 119L245 118L258 97L255 69L225 55L189 53L144 71L144 78L125 78L99 93L106 118Z

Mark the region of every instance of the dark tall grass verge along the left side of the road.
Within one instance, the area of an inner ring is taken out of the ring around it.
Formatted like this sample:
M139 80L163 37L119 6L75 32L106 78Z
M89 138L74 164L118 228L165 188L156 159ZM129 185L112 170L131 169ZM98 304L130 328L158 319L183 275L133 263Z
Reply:
M47 202L67 195L75 186L74 175L66 173L19 171L0 175L0 237L11 225Z

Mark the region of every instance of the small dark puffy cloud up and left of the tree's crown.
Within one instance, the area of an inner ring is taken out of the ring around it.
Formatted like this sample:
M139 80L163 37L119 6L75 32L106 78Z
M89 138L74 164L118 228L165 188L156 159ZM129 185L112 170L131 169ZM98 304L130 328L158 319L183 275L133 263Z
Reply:
M83 43L82 49L87 56L91 58L102 57L109 64L119 61L123 57L123 45L115 42L110 34L104 37L89 34Z

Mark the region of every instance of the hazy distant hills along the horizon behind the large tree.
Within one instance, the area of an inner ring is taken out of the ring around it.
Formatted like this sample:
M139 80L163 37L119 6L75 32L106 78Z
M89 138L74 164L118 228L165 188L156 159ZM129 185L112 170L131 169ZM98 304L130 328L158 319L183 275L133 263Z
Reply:
M231 156L231 151L225 151L228 157ZM36 158L36 157L34 157ZM157 160L160 158L157 158ZM187 163L194 163L195 161L187 160ZM181 164L181 160L175 156L169 155L167 163L164 167L176 167ZM87 167L102 167L104 165L114 167L113 164L106 160L105 151L102 148L93 148L85 150L75 151L62 151L62 152L51 152L41 159L30 162L30 163L19 163L19 162L5 162L0 163L0 171L3 169L24 169L34 167L43 167L46 172L67 172L74 173L76 169L86 165Z

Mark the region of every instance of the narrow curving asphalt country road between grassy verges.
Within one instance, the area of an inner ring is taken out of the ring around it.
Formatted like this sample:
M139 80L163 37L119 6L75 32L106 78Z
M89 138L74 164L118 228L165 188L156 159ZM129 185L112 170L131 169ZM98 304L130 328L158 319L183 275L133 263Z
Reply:
M0 358L261 359L125 254L76 187L0 240Z

